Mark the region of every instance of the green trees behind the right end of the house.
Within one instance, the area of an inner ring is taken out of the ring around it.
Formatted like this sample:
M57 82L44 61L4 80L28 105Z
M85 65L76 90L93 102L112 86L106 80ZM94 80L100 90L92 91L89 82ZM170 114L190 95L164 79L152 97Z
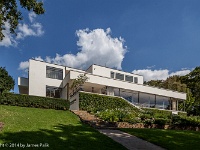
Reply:
M185 76L171 76L166 80L151 80L144 84L187 93L185 110L188 114L200 115L200 67ZM183 107L183 104L179 106Z

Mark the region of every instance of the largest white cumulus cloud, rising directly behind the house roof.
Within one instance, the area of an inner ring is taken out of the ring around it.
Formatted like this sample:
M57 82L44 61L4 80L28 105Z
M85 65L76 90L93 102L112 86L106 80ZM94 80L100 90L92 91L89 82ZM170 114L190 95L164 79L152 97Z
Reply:
M53 58L47 56L44 61L81 69L86 69L91 64L122 68L121 63L126 53L124 39L111 37L110 28L78 30L76 35L80 50L77 54L56 54Z

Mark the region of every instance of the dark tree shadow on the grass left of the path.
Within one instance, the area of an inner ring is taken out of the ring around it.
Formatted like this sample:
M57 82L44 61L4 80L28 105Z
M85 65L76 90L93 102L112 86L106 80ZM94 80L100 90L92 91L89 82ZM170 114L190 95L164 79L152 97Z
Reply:
M39 131L4 132L0 134L0 139L3 140L3 143L15 147L14 149L20 146L14 145L18 143L25 144L26 146L28 144L35 144L35 146L38 145L40 148L44 144L43 147L46 146L48 149L125 149L84 124L77 126L59 124L54 126L53 130L40 129ZM33 145L29 146L32 147L29 149L35 149Z

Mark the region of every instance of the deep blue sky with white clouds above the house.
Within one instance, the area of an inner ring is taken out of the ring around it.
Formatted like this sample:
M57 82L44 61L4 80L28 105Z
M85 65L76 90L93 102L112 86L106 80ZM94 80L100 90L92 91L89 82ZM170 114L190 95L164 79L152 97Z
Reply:
M14 92L30 58L82 69L96 63L145 80L184 75L200 65L199 6L199 0L45 0L42 16L22 9L18 36L4 32L0 66L14 77Z

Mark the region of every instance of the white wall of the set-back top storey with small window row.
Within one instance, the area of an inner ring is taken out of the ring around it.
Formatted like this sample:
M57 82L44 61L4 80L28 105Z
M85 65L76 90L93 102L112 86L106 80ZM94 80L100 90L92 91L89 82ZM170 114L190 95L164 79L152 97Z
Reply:
M87 71L87 72L95 74L95 75L110 78L111 77L110 73L112 71L112 72L115 72L115 73L121 73L121 74L124 74L124 75L133 76L133 78L137 77L138 78L138 84L143 84L143 76L124 72L124 71L120 71L120 70L115 70L115 69L111 69L111 68L107 68L107 67L103 67L103 66L98 66L98 65L92 65L92 66L93 66L92 71ZM91 69L91 67L89 69ZM124 76L124 79L125 79L125 76ZM133 82L134 82L134 79L133 79Z

